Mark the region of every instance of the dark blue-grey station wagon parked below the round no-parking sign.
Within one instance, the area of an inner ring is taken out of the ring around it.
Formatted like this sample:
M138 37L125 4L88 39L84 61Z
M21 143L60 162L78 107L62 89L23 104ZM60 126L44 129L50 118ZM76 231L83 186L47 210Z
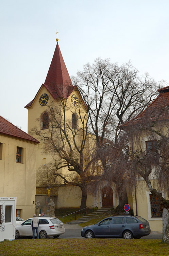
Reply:
M112 216L97 224L82 228L81 236L85 238L141 238L150 234L149 222L139 216Z

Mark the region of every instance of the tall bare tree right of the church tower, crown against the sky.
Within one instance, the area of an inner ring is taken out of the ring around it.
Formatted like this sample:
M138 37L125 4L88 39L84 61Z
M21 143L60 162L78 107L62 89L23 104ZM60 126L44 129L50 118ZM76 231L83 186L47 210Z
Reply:
M123 132L120 125L146 108L156 95L157 85L148 74L140 77L130 61L118 66L109 59L100 58L93 65L87 63L84 71L78 72L78 77L73 78L73 82L88 106L89 130L96 136L96 161L92 162L92 170L93 173L94 170L102 170L96 176L97 185L91 185L92 191L95 194L105 180L114 182L120 201L117 207L119 213L128 200L123 182L124 169L117 172L116 164L112 164L108 157L109 152L115 158L123 155L124 150L128 151L128 143L126 146L121 143ZM107 142L111 145L111 151Z

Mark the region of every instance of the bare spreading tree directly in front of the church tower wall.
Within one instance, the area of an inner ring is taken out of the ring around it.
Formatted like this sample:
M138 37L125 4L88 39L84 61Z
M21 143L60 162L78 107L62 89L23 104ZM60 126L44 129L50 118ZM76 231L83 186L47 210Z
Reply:
M83 100L79 100L75 108L70 104L69 100L61 97L57 101L51 99L47 105L45 129L35 127L31 133L43 142L43 152L53 158L39 168L38 183L50 186L64 183L79 187L82 191L80 208L83 209L86 207L87 183L90 179L88 168L93 161L89 159L91 133L88 131L88 113ZM39 119L39 122L42 120Z

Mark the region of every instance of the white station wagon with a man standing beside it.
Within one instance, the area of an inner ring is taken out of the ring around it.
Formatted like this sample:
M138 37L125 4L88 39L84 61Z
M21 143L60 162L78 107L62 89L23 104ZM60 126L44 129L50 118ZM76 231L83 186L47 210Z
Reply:
M16 226L15 239L19 238L20 236L32 236L31 219L32 218L29 218L22 224ZM65 233L64 224L60 221L60 219L55 217L38 217L38 219L39 238L47 238L50 236L58 238L60 234Z

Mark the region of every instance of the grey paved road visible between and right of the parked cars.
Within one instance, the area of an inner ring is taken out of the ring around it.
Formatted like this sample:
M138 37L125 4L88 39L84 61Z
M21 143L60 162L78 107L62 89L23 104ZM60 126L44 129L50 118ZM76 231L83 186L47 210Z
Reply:
M82 227L79 226L78 224L64 224L65 227L65 233L60 235L61 238L81 238L81 229ZM161 233L151 233L149 236L146 237L141 237L140 239L162 239L162 234Z

